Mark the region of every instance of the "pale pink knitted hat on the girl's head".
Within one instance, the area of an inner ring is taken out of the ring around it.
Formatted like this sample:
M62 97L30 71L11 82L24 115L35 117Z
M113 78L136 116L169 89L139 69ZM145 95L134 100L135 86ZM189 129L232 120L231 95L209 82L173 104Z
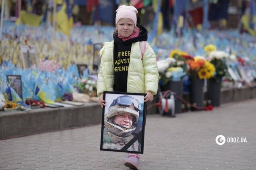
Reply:
M116 10L116 24L121 18L129 18L136 26L138 10L134 6L121 5Z

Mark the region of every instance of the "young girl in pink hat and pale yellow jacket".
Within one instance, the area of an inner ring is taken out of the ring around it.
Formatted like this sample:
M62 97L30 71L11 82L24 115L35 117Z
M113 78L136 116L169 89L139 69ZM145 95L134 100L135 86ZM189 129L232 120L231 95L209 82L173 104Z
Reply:
M138 13L134 6L119 6L116 10L114 40L105 42L100 51L97 95L101 107L105 106L103 91L146 93L145 102L157 94L158 70L153 49L146 43L142 59L140 41L147 41L147 29L136 24ZM127 154L124 165L137 169L138 154Z

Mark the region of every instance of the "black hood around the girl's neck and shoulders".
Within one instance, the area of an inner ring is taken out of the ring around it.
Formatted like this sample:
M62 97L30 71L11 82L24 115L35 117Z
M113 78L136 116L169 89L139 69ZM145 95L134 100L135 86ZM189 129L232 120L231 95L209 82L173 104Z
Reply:
M140 34L137 37L123 41L121 38L118 37L118 33L114 32L114 34L113 34L114 42L116 42L116 43L122 42L124 45L126 45L126 44L130 44L133 42L138 42L138 41L147 41L148 40L147 28L145 28L144 26L142 26L140 24L137 24L137 26L138 26L138 28L140 28Z

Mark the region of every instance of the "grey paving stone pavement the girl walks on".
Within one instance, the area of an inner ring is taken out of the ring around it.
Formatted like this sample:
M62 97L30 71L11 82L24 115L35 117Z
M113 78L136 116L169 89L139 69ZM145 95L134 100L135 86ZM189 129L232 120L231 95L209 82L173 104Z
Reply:
M140 170L256 170L256 99L213 111L148 115ZM127 170L100 151L101 125L0 140L0 170ZM226 143L215 142L218 135ZM243 137L247 143L228 143Z

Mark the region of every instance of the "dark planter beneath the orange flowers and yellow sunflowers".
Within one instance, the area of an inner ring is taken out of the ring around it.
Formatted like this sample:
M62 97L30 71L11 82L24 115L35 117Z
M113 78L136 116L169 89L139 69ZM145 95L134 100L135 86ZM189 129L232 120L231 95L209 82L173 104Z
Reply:
M191 85L189 89L190 103L196 104L198 107L204 106L204 80L203 79L190 79Z

